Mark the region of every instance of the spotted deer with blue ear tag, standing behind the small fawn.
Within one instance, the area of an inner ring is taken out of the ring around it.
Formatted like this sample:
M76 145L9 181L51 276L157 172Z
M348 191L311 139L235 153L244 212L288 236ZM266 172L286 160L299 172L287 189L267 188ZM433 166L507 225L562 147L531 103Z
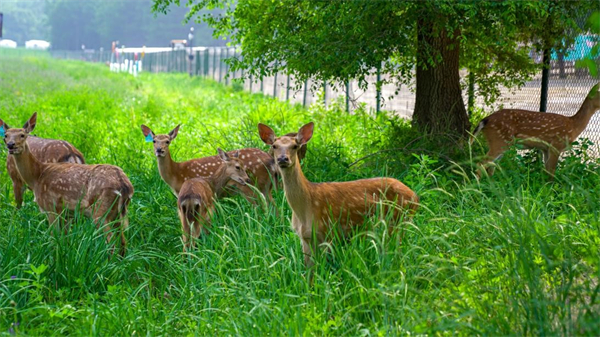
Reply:
M157 135L145 125L142 125L142 132L147 142L153 142L160 176L171 187L175 195L179 194L179 190L186 180L209 177L217 171L222 163L222 160L218 156L175 162L171 158L169 146L175 137L177 137L179 125L166 135ZM273 158L260 149L250 148L238 151L239 158L244 163L253 185L272 202L271 189L273 187L273 180L277 176L277 168L275 167ZM232 152L229 152L229 155L231 156ZM251 188L241 185L238 182L230 181L227 184L227 190L228 193L231 193L232 190L237 190L250 201L253 201L256 197Z

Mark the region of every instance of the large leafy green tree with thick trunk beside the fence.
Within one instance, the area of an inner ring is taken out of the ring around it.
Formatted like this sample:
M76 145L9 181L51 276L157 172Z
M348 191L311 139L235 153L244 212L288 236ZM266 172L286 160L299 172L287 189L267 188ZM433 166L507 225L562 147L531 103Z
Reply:
M179 0L153 0L167 11ZM282 64L299 79L344 81L374 69L397 84L416 80L413 123L429 133L465 135L470 128L459 69L474 73L480 94L523 83L536 66L528 57L561 47L574 18L598 1L254 1L189 0L188 18L209 23L242 48L233 69L254 76ZM221 8L225 15L202 12Z

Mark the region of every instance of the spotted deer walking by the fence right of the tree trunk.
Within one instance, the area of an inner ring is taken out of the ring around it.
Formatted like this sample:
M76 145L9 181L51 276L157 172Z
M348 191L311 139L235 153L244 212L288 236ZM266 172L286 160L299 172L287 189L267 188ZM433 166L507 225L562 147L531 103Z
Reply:
M542 151L546 171L550 179L553 179L560 154L577 139L592 116L600 109L599 88L600 83L590 90L579 111L570 117L554 113L502 109L484 118L473 133L475 137L482 132L489 146L485 159L479 164L481 169L486 169L490 162L500 159L516 140L526 148ZM488 175L494 174L494 166L486 170ZM480 176L480 172L477 176Z

